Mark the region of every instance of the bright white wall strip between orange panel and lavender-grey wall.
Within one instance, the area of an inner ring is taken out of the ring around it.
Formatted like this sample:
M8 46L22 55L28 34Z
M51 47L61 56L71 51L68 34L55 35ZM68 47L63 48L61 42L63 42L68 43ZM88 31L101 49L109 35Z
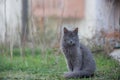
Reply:
M78 23L80 38L91 39L95 34L96 28L96 0L85 1L85 17Z

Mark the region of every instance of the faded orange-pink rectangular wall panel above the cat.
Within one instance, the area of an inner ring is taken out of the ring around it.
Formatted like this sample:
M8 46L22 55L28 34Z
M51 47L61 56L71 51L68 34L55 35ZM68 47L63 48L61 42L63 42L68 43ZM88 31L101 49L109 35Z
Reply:
M44 2L43 2L44 1ZM85 0L33 0L35 16L83 18Z

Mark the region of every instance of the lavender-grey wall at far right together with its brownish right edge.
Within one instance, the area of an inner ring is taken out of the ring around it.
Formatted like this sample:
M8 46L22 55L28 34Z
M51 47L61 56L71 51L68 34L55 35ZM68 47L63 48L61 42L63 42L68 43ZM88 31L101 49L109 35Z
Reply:
M114 0L96 0L96 21L97 27L104 30L114 30L119 28L120 3Z

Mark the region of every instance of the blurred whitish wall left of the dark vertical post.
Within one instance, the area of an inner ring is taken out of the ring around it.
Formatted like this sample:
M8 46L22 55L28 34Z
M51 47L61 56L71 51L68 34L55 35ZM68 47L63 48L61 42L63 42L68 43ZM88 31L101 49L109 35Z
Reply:
M5 26L5 18L7 28ZM7 30L7 39L17 36L18 23L21 25L21 0L6 0L6 17L5 17L5 0L0 2L0 42L5 40Z

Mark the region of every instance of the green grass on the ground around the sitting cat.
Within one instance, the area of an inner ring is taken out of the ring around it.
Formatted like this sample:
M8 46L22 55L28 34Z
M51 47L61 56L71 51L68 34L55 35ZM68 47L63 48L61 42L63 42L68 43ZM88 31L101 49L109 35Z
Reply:
M66 80L62 77L67 71L63 54L55 54L52 49L42 53L25 50L25 57L19 56L15 49L13 59L9 55L0 55L0 80ZM120 65L101 53L94 54L97 64L95 77L81 80L120 80ZM71 79L74 80L74 79Z

